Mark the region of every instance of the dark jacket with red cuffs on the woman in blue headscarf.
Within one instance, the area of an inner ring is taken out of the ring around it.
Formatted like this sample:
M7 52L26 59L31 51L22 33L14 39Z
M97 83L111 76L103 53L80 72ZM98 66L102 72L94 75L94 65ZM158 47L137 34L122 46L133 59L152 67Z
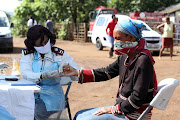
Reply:
M111 108L114 114L124 114L136 120L153 99L154 72L149 56L139 53L131 64L128 57L121 55L105 68L81 70L79 82L100 82L119 75L119 88L116 103ZM151 118L151 111L145 118Z

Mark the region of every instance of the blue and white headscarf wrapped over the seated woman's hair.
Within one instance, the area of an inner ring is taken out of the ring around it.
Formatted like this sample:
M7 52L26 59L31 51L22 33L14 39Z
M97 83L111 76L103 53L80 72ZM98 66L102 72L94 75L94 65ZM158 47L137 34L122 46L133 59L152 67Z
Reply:
M128 35L133 35L138 40L142 37L142 30L145 29L146 26L143 22L139 20L133 20L130 18L124 18L118 20L115 30L119 30Z

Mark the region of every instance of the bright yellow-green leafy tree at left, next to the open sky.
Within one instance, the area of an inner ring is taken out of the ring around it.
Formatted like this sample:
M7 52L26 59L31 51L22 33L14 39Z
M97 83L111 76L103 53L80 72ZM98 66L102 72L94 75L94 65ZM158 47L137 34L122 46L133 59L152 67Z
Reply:
M38 24L45 21L45 14L43 12L43 3L40 1L31 2L31 0L24 0L20 6L14 11L13 16L13 33L14 35L25 36L27 32L27 21L30 15L33 15Z

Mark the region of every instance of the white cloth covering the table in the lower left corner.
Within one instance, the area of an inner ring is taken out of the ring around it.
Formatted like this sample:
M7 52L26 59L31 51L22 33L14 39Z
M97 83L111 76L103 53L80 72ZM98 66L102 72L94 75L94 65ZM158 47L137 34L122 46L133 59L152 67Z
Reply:
M2 77L0 79L0 106L16 120L34 120L34 92L40 92L40 88L24 79L18 81L5 81Z

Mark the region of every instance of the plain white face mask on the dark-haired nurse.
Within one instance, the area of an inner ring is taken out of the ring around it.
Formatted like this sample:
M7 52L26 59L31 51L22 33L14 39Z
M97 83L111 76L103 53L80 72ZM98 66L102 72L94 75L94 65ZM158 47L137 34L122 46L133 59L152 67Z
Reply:
M51 44L50 44L50 39L49 41L46 43L45 46L41 46L41 47L34 47L36 49L37 52L41 53L41 54L46 54L50 51L51 49Z

